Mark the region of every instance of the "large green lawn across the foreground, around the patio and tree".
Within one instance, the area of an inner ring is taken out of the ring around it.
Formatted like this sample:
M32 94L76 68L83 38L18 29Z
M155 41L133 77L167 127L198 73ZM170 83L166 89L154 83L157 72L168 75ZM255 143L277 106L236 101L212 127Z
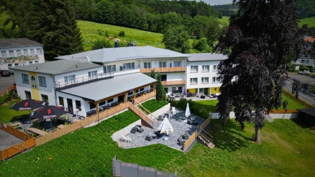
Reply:
M199 143L187 155L163 145L118 148L111 135L138 119L132 112L76 130L11 160L0 162L0 176L110 176L111 160L120 160L177 172L182 177L313 176L315 131L291 120L266 122L261 143L252 143L252 124L240 130L234 119L222 127L212 120L209 132L216 148ZM49 160L49 157L52 159Z

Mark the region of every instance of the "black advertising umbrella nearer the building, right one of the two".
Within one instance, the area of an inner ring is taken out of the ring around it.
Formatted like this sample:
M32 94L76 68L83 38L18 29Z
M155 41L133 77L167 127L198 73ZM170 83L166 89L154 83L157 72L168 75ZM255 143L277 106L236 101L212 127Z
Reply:
M45 105L42 108L35 110L31 114L31 118L38 118L40 120L46 119L53 119L58 118L64 114L67 114L67 111L64 111L63 107L60 106L52 106L52 105Z

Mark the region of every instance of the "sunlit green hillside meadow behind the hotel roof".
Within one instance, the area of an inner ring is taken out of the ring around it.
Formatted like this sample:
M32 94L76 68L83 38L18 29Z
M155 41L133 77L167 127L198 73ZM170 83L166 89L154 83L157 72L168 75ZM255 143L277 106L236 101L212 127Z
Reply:
M99 38L107 38L105 36L105 31L108 31L109 36L123 40L124 42L136 42L137 46L154 46L159 48L164 48L161 44L162 35L160 33L149 32L139 29L130 29L125 27L119 27L114 25L107 25L107 24L99 24L95 22L89 21L78 21L78 26L80 28L82 37L83 37L83 44L86 51L91 50L93 46L93 41ZM118 36L120 31L125 31L125 37ZM114 39L111 41L111 45L114 46Z

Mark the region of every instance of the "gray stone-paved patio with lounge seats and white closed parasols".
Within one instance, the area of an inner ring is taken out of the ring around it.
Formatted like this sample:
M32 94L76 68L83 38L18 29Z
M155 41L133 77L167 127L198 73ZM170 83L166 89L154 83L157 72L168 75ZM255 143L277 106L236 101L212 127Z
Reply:
M169 122L174 128L174 132L170 133L168 135L169 140L162 140L162 138L154 139L151 142L145 140L146 135L154 135L154 132L157 131L158 126L156 126L154 129L144 127L144 132L135 134L128 133L125 135L126 137L131 138L131 143L125 143L125 142L119 142L119 147L121 148L137 148L137 147L143 147L143 146L149 146L153 144L162 144L166 145L170 148L175 148L178 150L183 150L183 146L179 146L177 139L184 134L185 132L189 132L189 136L197 130L197 128L204 122L205 119L200 118L195 115L191 115L189 118L195 118L195 120L198 121L198 125L189 125L184 120L186 120L185 112L182 110L177 110L176 114L172 114L170 111L167 111L165 113L169 114ZM165 114L164 113L164 114ZM162 115L164 115L162 114ZM162 121L158 121L158 125L160 125Z

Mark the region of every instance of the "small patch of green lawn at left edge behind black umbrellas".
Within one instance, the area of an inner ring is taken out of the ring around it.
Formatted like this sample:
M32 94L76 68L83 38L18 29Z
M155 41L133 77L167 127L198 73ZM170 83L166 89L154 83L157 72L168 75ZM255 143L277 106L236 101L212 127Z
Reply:
M28 118L29 111L15 111L9 109L17 100L10 101L9 103L5 103L0 106L0 119L1 122L13 122L18 120L19 118Z

